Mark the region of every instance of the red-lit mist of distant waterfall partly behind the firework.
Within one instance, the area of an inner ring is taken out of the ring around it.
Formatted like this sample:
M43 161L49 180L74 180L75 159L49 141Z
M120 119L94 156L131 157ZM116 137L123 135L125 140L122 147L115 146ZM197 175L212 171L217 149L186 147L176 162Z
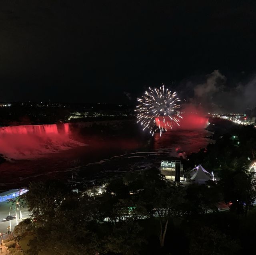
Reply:
M168 120L166 117L159 116L155 119L157 127L163 127L166 130L192 130L206 128L208 125L208 118L196 113L181 114L183 119L177 123ZM172 128L171 128L171 123Z

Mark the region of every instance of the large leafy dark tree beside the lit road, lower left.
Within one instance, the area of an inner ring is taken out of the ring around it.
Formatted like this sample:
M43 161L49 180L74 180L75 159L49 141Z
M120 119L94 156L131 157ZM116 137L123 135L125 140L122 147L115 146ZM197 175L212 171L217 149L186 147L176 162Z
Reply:
M72 192L59 181L32 182L25 199L34 221L34 239L30 254L41 251L54 254L95 253L100 241L91 230L94 200ZM45 245L47 243L47 245Z

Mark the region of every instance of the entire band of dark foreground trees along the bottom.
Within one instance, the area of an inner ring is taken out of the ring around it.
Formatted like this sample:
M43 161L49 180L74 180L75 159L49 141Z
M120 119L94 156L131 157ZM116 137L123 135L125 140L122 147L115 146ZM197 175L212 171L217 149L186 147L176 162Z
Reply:
M244 254L256 234L255 212L248 212L256 185L248 170L234 174L241 183L228 177L185 188L150 169L112 180L100 198L59 182L31 183L26 201L32 220L15 233L33 237L31 255ZM238 202L220 212L223 198Z

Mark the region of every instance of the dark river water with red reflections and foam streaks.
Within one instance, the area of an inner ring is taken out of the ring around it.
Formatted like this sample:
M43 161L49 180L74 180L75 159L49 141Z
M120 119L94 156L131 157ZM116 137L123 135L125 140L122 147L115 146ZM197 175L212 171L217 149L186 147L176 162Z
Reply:
M69 150L45 154L30 160L16 160L0 164L0 190L20 188L31 180L71 178L85 180L116 176L120 173L160 166L161 160L185 157L197 152L209 142L212 132L178 130L140 136L84 136L86 144Z

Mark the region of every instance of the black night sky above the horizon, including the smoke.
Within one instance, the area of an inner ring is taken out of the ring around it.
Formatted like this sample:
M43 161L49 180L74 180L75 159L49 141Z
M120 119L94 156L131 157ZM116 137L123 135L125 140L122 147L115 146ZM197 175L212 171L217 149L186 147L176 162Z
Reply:
M2 0L0 101L255 107L255 1ZM242 102L241 102L242 101Z

